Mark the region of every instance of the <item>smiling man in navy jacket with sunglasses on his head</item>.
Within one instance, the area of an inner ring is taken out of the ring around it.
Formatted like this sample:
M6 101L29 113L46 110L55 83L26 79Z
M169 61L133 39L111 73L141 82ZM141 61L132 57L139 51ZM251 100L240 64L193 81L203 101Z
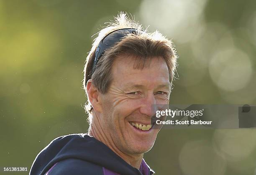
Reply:
M88 133L53 140L30 174L153 174L143 160L159 132L152 105L169 104L176 59L170 40L120 13L99 32L84 67Z

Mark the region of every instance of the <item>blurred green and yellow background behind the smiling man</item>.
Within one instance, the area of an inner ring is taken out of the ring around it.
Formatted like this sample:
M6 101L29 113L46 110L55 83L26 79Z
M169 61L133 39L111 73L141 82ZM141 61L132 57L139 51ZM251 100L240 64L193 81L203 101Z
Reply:
M173 39L172 104L256 104L255 0L0 0L0 167L29 170L87 132L85 57L119 11ZM157 175L254 175L256 130L161 130L145 160Z

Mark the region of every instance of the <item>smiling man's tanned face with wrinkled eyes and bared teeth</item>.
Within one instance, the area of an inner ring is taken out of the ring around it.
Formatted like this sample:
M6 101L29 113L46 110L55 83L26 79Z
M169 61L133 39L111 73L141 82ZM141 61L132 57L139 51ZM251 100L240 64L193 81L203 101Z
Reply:
M100 95L101 128L116 148L128 154L146 153L153 147L159 130L149 129L156 112L152 105L169 104L170 93L163 58L152 58L142 70L134 69L135 59L122 56L114 61L113 80L108 92Z

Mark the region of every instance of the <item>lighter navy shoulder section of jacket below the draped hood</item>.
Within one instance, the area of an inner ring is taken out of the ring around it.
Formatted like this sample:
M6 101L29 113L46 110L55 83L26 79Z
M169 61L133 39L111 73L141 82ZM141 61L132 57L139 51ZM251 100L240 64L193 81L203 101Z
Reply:
M66 159L55 163L46 175L103 175L101 166L79 159Z

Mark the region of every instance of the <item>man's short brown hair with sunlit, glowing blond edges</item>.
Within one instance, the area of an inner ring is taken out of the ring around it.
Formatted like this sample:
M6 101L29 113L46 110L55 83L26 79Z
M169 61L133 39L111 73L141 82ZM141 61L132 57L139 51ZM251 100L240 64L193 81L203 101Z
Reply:
M88 80L92 79L92 85L94 85L100 93L106 93L112 77L111 67L115 58L120 57L121 55L136 56L138 60L134 64L135 69L143 69L143 67L145 67L146 60L149 60L152 57L163 57L169 70L169 77L172 85L174 71L176 70L176 51L172 41L168 40L157 30L152 33L144 30L145 32L142 34L128 34L125 36L120 42L104 52L102 57L100 57L100 60L97 62L95 72L92 74L92 65L97 45L102 38L104 38L110 32L122 28L136 28L138 30L142 30L141 25L131 20L127 14L121 12L115 18L115 21L109 23L106 28L103 28L98 33L98 37L95 38L92 44L92 49L86 58L83 80L84 90L87 92L86 83ZM92 114L92 105L90 104L89 100L87 101L88 104L84 106L84 109L89 114Z

